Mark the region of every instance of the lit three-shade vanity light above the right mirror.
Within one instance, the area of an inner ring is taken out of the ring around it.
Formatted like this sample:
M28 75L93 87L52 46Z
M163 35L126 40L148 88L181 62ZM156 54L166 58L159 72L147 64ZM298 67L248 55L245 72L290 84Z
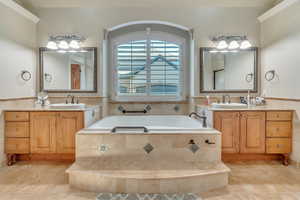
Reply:
M247 36L219 36L214 37L212 41L216 44L218 50L237 50L252 47Z

